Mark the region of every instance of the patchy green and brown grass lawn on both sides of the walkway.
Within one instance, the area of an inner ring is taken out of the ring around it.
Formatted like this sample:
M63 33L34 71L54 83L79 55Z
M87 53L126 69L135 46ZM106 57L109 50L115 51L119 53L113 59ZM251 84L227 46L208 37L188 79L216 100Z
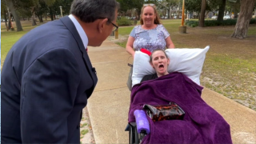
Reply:
M187 34L179 34L181 19L162 20L162 23L169 31L176 48L210 46L202 70L202 86L256 110L256 25L250 25L248 38L234 39L230 38L234 26L187 27ZM7 32L2 22L1 66L14 42L34 28L28 22L23 22L22 26L22 32ZM133 28L134 26L120 26L119 39L109 39L125 48Z

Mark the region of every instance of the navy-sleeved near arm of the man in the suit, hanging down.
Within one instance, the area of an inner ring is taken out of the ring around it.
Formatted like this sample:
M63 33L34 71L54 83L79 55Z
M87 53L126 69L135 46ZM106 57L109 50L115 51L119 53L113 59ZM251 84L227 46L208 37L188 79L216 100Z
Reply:
M54 49L42 54L22 77L21 128L24 143L66 143L80 74L74 54Z

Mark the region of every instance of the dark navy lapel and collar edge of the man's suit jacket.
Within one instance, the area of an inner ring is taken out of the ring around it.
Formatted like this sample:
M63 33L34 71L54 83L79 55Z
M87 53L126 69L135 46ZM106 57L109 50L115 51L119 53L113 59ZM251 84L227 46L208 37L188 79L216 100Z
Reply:
M90 77L93 79L94 82L94 87L96 86L96 83L98 81L98 78L96 76L96 70L95 68L91 65L90 58L86 52L86 48L82 43L82 39L80 38L80 35L78 34L78 30L75 28L74 23L70 20L68 16L63 17L60 19L63 24L67 27L67 29L70 30L70 32L73 34L75 40L78 42L78 46L80 51L82 52L82 57L84 62L86 63L86 68L90 74Z

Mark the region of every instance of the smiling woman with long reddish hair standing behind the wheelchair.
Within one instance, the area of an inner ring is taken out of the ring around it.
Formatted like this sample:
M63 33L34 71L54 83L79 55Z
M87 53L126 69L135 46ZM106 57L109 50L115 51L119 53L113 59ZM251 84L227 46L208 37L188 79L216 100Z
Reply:
M126 44L126 51L134 57L134 50L146 49L152 52L155 49L166 50L174 48L170 34L160 23L158 11L154 4L144 4L141 12L141 25L135 26L130 32Z

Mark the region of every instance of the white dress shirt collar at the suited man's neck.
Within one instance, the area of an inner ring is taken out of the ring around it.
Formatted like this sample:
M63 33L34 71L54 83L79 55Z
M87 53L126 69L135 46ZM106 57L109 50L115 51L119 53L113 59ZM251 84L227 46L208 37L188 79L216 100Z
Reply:
M72 14L69 15L69 18L74 23L75 28L78 30L78 34L80 35L80 38L82 39L83 46L87 49L88 46L88 38L86 35L86 32L82 29L82 26L79 24L78 20L74 18Z

